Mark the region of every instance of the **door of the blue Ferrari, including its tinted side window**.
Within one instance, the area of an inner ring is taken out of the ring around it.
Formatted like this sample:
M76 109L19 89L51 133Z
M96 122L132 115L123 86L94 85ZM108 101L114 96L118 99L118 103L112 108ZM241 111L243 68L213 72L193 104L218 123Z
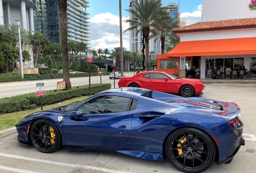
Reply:
M82 105L78 108L82 117L64 120L66 145L124 148L131 129L129 103L130 98L105 95Z

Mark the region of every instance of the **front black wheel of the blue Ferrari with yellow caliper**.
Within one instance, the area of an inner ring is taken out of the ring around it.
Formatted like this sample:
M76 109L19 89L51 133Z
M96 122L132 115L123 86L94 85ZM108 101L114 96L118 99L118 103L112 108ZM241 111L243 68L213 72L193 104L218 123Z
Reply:
M62 137L57 127L46 119L39 119L30 129L31 142L43 153L52 153L62 147Z

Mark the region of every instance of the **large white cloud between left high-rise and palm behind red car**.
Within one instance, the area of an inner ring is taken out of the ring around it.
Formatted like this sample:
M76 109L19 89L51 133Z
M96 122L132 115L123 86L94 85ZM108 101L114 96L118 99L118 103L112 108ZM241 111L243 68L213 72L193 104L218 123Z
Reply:
M128 18L122 17L122 21ZM120 26L119 16L111 13L101 13L95 15L91 22L91 49L108 48L110 51L114 47L120 47ZM129 27L129 23L122 22L122 30ZM123 47L129 50L129 32L123 33Z

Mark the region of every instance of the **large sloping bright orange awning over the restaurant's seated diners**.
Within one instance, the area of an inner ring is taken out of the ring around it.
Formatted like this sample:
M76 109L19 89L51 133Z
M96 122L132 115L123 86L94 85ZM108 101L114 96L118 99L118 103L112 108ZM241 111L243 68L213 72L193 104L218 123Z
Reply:
M256 37L179 42L167 57L256 54Z

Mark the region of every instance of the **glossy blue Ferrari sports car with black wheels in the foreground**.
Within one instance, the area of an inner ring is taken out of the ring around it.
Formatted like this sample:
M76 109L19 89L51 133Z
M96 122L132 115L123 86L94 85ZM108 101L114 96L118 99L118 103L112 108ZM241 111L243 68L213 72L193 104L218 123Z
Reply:
M245 145L235 103L184 98L141 88L103 91L83 101L32 113L17 125L16 142L43 153L111 150L164 160L184 172L213 161L230 163Z

